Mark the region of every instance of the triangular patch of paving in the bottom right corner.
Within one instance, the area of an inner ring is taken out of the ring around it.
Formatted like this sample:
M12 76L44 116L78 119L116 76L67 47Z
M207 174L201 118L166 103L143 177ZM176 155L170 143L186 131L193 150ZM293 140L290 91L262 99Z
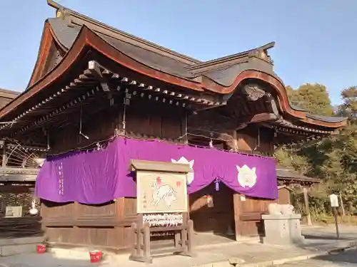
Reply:
M319 256L306 261L285 263L280 267L356 267L357 251L350 250L335 255Z

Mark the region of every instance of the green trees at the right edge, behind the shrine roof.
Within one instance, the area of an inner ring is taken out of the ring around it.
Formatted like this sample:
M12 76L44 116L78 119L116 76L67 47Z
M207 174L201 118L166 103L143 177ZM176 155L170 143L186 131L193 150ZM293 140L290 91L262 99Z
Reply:
M337 110L323 85L306 84L286 90L293 104L318 115L348 117L348 125L338 135L323 140L281 145L276 150L278 163L323 179L323 184L311 191L312 200L318 205L326 206L328 194L337 193L341 194L345 209L357 213L357 87L341 91L343 102Z

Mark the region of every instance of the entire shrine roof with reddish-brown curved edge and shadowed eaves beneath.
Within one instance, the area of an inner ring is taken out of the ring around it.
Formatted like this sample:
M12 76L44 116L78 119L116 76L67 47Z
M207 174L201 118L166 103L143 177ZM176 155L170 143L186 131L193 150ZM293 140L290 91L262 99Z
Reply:
M226 105L239 86L261 83L268 98L277 100L276 118L279 117L279 121L276 120L278 125L273 127L280 127L280 124L286 127L286 119L298 122L287 127L299 127L301 130L310 127L313 132L323 130L330 134L346 125L346 118L310 115L289 103L285 86L273 72L273 62L267 53L274 43L201 62L107 26L54 1L48 0L48 3L56 8L56 18L47 19L45 23L29 88L0 110L0 120L27 123L31 113L43 115L43 110L48 113L49 107L46 105L52 108L59 105L50 103L56 94L55 90L64 88L62 90L67 91L83 85L81 77L88 77L86 72L89 71L84 69L84 64L97 60L106 65L101 70L106 74L111 73L113 77L126 75L121 78L134 80L138 85L162 87L164 90L161 91L166 95L180 95L201 106L210 105L209 108ZM59 61L54 61L53 66L44 68L54 46L60 47L65 55L59 57ZM91 59L87 56L89 53ZM74 93L72 97L79 96ZM56 101L58 99L56 97ZM231 103L234 104L234 100ZM236 108L236 104L233 108ZM54 110L55 113L57 111Z

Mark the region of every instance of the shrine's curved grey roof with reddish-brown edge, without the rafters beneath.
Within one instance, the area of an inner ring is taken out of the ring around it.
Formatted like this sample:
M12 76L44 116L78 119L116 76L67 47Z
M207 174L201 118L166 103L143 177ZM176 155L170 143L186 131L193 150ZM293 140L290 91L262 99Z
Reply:
M289 103L285 86L273 72L272 61L266 53L274 43L201 62L106 26L54 1L48 2L57 9L57 17L46 21L44 31L51 33L51 38L67 52L66 56L43 78L30 84L19 98L0 110L0 118L64 75L82 51L90 47L137 73L211 95L226 95L229 98L243 80L261 80L275 90L273 93L278 97L278 105L283 114L322 127L337 128L346 124L346 118L310 115ZM40 56L46 55L42 53Z

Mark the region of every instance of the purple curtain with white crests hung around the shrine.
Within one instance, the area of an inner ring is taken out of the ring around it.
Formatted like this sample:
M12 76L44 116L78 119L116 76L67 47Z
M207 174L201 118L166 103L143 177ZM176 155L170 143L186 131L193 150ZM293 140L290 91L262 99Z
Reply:
M56 202L100 204L118 197L136 197L128 172L130 159L190 164L188 192L223 182L250 197L278 197L273 158L223 152L210 148L118 137L104 150L49 157L36 180L36 195Z

